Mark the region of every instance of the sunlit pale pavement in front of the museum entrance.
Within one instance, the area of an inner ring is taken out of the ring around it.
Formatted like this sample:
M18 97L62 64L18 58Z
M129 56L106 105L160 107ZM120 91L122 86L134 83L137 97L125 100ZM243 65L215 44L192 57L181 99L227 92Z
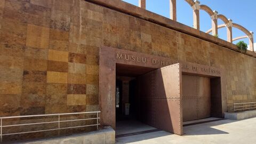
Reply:
M183 136L165 131L116 138L116 143L256 143L256 117L185 126Z

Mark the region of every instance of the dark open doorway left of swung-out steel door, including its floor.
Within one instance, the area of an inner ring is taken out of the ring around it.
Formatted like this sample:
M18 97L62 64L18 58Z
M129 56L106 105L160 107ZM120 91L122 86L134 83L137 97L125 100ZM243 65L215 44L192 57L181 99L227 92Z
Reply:
M155 68L116 63L116 135L156 130L142 122L139 76Z

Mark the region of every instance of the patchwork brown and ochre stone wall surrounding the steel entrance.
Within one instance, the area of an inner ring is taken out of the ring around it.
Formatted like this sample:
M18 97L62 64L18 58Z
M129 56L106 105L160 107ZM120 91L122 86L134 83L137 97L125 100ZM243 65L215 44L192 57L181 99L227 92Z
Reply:
M99 46L226 70L228 103L256 101L256 59L69 0L0 0L0 116L98 110Z

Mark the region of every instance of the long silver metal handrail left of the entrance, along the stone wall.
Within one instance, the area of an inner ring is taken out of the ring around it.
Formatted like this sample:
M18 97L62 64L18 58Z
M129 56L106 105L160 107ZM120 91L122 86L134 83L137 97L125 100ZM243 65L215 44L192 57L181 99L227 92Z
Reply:
M60 116L62 115L77 115L77 114L97 114L97 117L95 118L83 118L83 119L71 119L71 120L65 120L60 121ZM3 140L4 135L14 135L14 134L23 134L23 133L34 133L34 132L45 132L45 131L54 131L58 130L58 135L60 135L60 130L63 129L73 129L78 127L86 127L86 126L97 126L97 131L99 130L99 113L100 111L89 111L89 112L81 112L81 113L62 113L62 114L45 114L45 115L26 115L26 116L8 116L8 117L0 117L1 119L1 143ZM13 124L13 125L3 125L3 119L10 119L10 118L23 118L23 117L43 117L43 116L58 116L58 121L52 121L52 122L41 122L41 123L27 123L27 124ZM91 124L91 125L81 125L81 126L71 126L71 127L60 127L61 122L74 122L74 121L86 121L89 119L97 119L97 124ZM49 124L49 123L58 123L58 129L47 129L47 130L38 130L38 131L28 131L28 132L16 132L16 133L6 133L3 134L3 127L11 127L11 126L23 126L23 125L37 125L37 124Z

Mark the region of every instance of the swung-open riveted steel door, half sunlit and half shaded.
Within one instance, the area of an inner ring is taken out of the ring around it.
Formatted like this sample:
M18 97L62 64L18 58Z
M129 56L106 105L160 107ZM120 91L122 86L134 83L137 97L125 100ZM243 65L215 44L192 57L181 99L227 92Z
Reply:
M138 77L142 122L182 135L180 79L179 64Z

